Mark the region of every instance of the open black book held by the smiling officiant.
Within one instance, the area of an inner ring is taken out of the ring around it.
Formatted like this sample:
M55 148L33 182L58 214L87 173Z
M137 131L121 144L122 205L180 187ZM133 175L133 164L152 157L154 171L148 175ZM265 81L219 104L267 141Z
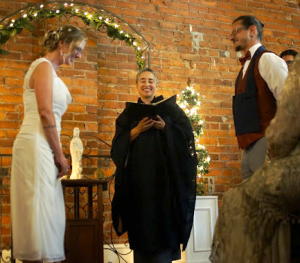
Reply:
M141 121L145 117L156 119L157 115L160 117L171 115L176 106L176 98L177 95L174 95L170 98L151 104L126 102L129 121Z

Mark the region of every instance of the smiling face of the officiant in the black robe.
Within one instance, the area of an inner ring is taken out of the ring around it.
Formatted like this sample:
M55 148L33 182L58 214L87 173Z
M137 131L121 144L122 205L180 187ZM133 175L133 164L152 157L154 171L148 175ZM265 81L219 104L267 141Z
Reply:
M144 71L140 74L136 88L144 103L150 103L157 90L157 83L154 74Z

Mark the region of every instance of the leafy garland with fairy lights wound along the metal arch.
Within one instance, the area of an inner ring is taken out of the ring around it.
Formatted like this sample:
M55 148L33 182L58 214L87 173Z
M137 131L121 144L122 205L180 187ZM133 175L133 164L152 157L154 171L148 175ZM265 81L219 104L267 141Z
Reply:
M46 7L44 4L31 6L26 10L21 10L15 19L9 20L6 24L0 24L0 44L5 44L8 39L15 34L20 34L25 28L33 30L32 21L41 21L47 18L62 17L79 17L85 25L91 26L95 30L105 29L109 37L125 41L125 43L134 48L137 64L140 69L145 67L143 43L129 32L125 31L121 25L115 22L114 18L108 17L104 10L96 11L91 9L85 10L85 7L78 6L74 3L60 3L52 7ZM0 54L8 54L0 45Z

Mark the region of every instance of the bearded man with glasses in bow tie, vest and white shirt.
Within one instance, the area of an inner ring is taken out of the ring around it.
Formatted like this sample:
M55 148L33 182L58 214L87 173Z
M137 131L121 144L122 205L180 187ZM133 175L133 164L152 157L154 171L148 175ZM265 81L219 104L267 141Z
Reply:
M276 112L276 100L288 75L283 59L262 46L263 24L254 16L232 23L230 40L244 53L235 83L233 117L239 148L243 150L242 179L249 178L266 159L265 131Z

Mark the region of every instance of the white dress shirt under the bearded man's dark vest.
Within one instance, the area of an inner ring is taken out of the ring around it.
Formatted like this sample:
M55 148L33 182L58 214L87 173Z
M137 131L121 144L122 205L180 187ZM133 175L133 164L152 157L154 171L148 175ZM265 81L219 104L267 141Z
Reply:
M260 46L261 44L258 43L249 49L251 58ZM243 77L245 76L250 62L251 60L247 60L245 62ZM258 70L262 78L268 84L268 87L273 93L275 99L277 99L288 76L288 68L285 61L274 53L264 53L259 60Z

